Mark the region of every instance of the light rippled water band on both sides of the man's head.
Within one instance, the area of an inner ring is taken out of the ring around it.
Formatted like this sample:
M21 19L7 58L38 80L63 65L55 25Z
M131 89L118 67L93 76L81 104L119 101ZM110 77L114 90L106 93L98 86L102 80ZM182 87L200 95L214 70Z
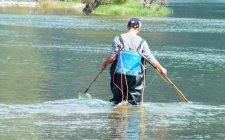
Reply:
M1 14L0 25L16 27L94 29L124 31L127 19L115 18L114 21L103 17L84 18L79 16L49 15L8 15ZM143 31L154 32L198 32L225 33L224 19L195 18L149 18L143 17ZM119 22L118 22L119 21Z

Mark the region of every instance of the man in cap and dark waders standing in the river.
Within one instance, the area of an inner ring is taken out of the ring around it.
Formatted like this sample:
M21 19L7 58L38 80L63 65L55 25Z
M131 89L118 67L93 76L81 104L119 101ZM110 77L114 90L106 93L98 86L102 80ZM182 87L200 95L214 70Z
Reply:
M145 59L158 71L166 75L167 71L152 55L149 46L137 34L141 30L141 21L131 18L127 24L128 32L116 36L109 56L102 63L102 69L110 67L111 91L114 105L128 101L132 105L140 105L145 80ZM143 58L144 56L144 58Z

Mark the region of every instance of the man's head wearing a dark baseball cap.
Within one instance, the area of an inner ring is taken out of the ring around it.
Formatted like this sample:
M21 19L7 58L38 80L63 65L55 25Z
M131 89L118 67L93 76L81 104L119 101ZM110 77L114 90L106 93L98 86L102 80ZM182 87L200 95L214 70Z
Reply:
M138 18L131 18L127 24L128 30L135 30L136 33L139 33L141 30L141 20Z

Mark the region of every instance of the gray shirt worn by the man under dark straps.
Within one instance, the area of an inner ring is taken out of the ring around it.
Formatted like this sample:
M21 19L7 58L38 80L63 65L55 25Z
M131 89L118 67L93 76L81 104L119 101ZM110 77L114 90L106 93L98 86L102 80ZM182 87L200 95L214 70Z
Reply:
M124 48L123 50L135 50L137 51L141 41L143 40L140 36L132 34L132 33L124 33L121 34ZM122 43L119 39L119 36L116 36L112 43L112 50L110 52L111 56L116 56L120 50L120 46L122 46ZM142 43L142 46L140 48L140 52L146 57L147 61L151 64L158 63L156 58L151 53L148 43L144 40Z

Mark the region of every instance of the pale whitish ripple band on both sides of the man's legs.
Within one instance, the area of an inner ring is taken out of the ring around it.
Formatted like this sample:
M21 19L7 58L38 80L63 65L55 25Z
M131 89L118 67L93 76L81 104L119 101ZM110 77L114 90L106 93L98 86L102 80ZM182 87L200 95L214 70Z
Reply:
M135 107L134 107L135 108ZM208 105L202 103L144 103L144 108L152 115L188 116L198 113L198 116L217 115L224 113L225 105ZM150 109L151 108L151 109ZM8 117L24 117L35 114L68 116L74 113L109 113L112 106L108 101L100 99L68 99L47 101L35 104L0 104L1 119ZM139 111L133 109L133 111ZM197 111L197 112L196 112ZM3 117L4 116L4 117Z

